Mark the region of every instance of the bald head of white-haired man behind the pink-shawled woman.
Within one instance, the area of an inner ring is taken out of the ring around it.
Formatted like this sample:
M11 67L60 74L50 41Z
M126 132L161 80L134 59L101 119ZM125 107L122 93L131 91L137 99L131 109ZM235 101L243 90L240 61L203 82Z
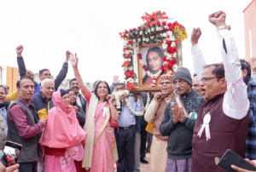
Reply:
M41 83L40 89L41 89L42 95L44 95L46 99L49 99L51 98L51 96L55 91L55 83L51 79L46 78Z

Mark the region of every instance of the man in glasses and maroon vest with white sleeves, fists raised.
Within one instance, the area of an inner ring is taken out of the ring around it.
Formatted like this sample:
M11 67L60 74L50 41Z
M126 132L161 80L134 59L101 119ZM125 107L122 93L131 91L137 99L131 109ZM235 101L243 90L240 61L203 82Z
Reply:
M195 123L192 141L193 171L225 171L215 164L214 158L221 158L227 149L244 157L246 148L250 103L236 44L225 24L224 12L211 14L209 20L217 27L224 65L205 66L198 38L196 39L200 37L201 31L194 29L191 37L192 54L194 65L197 66L195 72L202 73L199 77L206 102L201 106Z

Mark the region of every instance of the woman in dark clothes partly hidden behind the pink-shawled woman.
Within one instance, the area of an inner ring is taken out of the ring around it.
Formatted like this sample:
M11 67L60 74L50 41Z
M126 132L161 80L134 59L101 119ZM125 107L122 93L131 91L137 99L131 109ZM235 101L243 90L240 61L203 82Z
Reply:
M75 95L73 89L67 89L67 90L68 90L69 99L70 99L70 106L73 106L73 109L77 114L77 118L79 119L79 124L82 128L84 128L85 113L82 107L76 103L77 95Z

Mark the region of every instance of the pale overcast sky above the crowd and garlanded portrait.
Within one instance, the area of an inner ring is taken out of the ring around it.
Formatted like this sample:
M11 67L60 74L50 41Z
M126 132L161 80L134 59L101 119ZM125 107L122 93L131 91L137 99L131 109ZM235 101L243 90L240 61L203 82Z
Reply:
M251 2L1 1L0 66L17 67L15 48L22 44L26 68L32 72L49 68L56 76L66 51L70 50L79 56L79 70L84 82L101 79L111 84L113 75L124 80L121 68L123 42L119 32L143 24L141 17L145 12L151 14L161 10L186 27L189 38L183 41L183 66L194 72L190 53L193 27L201 27L200 46L207 62L221 61L216 28L208 21L208 15L218 10L226 12L226 24L231 26L240 58L245 58L243 10ZM69 63L67 78L73 77Z

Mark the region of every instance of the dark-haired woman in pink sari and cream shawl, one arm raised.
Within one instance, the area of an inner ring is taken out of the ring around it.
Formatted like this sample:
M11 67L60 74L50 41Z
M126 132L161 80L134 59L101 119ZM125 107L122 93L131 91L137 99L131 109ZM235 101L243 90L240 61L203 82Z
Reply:
M79 87L89 103L84 125L88 135L85 140L83 167L91 172L113 172L118 155L114 131L109 121L117 121L119 118L119 113L113 106L113 95L108 95L110 88L104 81L96 83L95 91L91 94L79 74L77 56L72 55L70 61Z

